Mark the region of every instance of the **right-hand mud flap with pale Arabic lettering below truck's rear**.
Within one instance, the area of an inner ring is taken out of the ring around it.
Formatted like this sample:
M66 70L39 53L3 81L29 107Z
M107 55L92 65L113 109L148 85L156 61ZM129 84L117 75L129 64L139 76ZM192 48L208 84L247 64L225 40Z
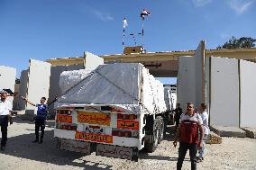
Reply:
M97 144L96 156L115 157L138 161L138 148Z

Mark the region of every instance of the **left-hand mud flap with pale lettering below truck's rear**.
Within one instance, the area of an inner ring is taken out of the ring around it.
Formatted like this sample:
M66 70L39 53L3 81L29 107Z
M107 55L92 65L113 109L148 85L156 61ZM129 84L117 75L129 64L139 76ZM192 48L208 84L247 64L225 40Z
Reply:
M85 141L58 139L58 148L61 150L81 152L87 155L91 154L90 142Z

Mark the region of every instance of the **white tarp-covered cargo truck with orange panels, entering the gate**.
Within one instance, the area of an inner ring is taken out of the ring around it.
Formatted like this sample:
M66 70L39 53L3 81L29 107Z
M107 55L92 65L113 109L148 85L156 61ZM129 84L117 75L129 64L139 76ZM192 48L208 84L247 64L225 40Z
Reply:
M55 103L59 149L137 161L163 139L164 88L142 64L64 72Z

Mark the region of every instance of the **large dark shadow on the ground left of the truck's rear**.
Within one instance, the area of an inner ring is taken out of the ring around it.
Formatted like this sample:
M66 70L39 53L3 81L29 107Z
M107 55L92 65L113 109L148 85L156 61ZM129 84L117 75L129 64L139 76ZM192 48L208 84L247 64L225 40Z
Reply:
M97 162L82 160L81 157L84 157L85 155L77 152L58 150L56 147L56 141L53 139L53 130L45 131L44 142L42 144L32 143L34 138L34 133L9 138L6 150L1 151L0 153L58 166L78 166L89 170L110 169L112 167ZM105 168L100 166L104 166Z

